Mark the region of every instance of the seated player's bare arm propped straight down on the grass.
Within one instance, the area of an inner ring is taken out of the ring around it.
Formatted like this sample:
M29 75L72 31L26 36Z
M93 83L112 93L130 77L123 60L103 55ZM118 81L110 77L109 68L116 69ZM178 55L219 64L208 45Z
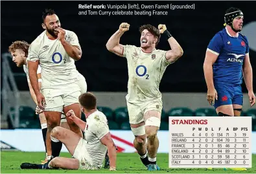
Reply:
M116 161L117 161L117 151L115 149L115 144L111 138L110 133L104 135L100 142L108 147L108 157L110 157L110 169L116 168Z

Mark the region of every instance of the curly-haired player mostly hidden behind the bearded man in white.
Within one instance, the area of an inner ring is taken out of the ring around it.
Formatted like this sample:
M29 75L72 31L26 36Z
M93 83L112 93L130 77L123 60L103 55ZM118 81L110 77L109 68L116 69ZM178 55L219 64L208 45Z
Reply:
M14 61L14 63L16 63L17 67L23 67L24 72L27 74L27 82L29 85L29 91L30 91L32 99L37 104L36 94L34 93L34 90L32 89L32 86L31 86L30 80L29 80L29 69L28 69L28 63L27 63L27 56L28 56L28 52L29 52L29 43L27 43L26 41L14 41L9 46L8 51L10 52L10 54L12 54L12 61ZM40 90L41 90L41 67L40 67L40 65L38 65L37 75L38 75L38 86L40 87ZM46 133L47 133L47 123L46 123L45 113L39 107L36 107L36 114L39 114L39 119L40 119L40 124L41 124L41 132L43 135L43 142L45 144L45 138L46 138ZM62 114L62 118L61 118L60 122L61 122L60 126L69 129L69 125L67 124L67 120L65 119L64 114ZM55 149L57 154L54 154L54 155L58 156L58 154L60 154L61 149L62 149L62 146L57 146ZM45 144L45 152L46 152L46 157L47 157L46 144ZM47 162L47 158L45 158L45 160L42 160L42 164L45 164L45 162Z

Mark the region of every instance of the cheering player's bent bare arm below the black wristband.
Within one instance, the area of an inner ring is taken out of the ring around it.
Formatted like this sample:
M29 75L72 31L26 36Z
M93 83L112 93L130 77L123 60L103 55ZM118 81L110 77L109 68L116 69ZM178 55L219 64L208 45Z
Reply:
M183 55L183 49L181 48L178 41L176 41L176 39L174 39L173 37L169 38L168 42L171 50L167 51L167 53L165 54L165 58L167 59L167 61L172 63L178 60L178 58Z

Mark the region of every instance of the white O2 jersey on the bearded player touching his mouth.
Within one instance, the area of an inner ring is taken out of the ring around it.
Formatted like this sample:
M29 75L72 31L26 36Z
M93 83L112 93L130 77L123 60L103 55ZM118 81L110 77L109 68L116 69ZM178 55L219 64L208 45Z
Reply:
M71 45L80 47L75 32L65 30L65 40ZM40 61L42 89L59 89L80 78L75 60L65 52L60 40L49 39L43 31L29 47L29 61Z

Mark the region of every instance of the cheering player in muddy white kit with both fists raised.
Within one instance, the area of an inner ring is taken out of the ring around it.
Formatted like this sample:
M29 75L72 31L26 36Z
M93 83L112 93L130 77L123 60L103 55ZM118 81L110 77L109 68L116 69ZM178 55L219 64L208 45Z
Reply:
M165 69L183 55L183 50L167 27L161 24L158 28L152 25L139 28L140 47L122 45L119 43L120 38L129 27L128 23L121 23L117 32L106 43L106 48L127 60L129 80L126 103L130 126L135 136L134 147L146 168L156 171L159 170L156 164L159 147L157 131L163 108L159 83ZM171 50L156 49L160 36L168 41Z

